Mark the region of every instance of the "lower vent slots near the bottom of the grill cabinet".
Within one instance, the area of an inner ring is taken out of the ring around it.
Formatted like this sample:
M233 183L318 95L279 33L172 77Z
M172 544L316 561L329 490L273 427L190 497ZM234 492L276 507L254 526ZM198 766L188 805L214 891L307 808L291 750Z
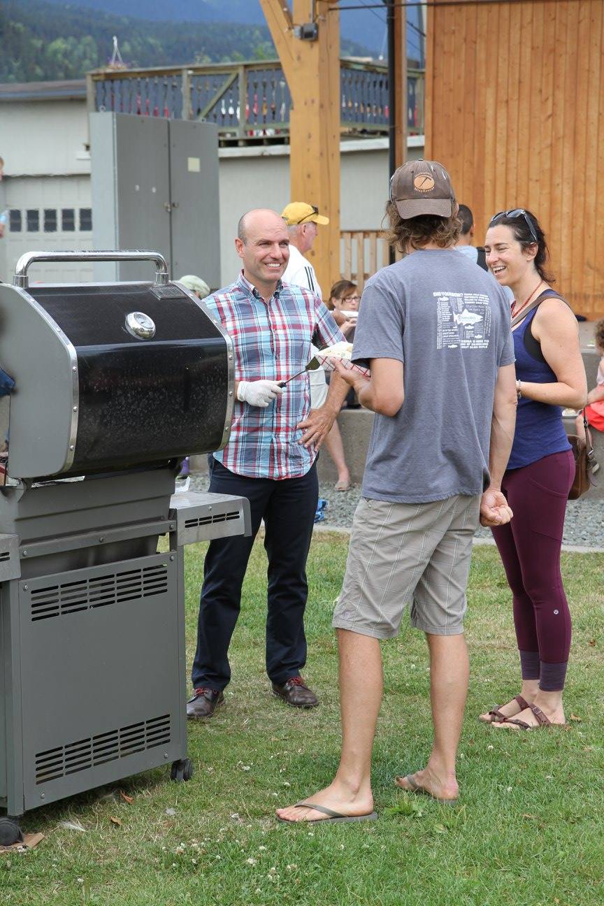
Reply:
M170 716L162 714L159 718L141 720L138 724L38 752L35 757L35 782L46 784L135 752L168 746L170 738Z

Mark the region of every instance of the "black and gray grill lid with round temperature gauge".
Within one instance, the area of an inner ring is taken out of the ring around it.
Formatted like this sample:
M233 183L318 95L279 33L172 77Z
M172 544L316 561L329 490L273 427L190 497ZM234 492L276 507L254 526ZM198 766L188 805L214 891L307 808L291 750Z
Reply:
M139 467L228 439L231 342L178 284L2 285L0 318L10 476Z

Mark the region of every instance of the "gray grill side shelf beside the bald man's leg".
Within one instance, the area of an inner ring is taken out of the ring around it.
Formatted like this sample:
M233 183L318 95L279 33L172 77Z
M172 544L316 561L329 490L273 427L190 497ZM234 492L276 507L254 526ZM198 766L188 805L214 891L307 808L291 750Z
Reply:
M177 526L178 546L252 532L249 501L228 494L173 494L170 519Z

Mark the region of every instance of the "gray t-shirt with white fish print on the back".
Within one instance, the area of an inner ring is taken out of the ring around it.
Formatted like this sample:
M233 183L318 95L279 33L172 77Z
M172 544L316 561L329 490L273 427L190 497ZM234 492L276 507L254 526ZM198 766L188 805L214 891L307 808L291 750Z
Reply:
M413 252L372 276L352 360L404 362L405 401L376 414L362 494L427 503L482 494L497 371L514 361L510 304L455 248Z

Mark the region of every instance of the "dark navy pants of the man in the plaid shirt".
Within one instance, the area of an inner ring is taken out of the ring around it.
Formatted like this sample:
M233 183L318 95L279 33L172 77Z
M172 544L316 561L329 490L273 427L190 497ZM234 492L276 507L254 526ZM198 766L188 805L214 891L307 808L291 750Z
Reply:
M228 648L241 608L241 588L254 538L264 519L268 554L266 672L283 685L306 663L304 608L308 595L306 558L319 496L316 463L300 478L249 478L235 475L215 458L210 487L216 494L247 497L252 535L210 542L199 604L193 688L224 689L231 679Z

